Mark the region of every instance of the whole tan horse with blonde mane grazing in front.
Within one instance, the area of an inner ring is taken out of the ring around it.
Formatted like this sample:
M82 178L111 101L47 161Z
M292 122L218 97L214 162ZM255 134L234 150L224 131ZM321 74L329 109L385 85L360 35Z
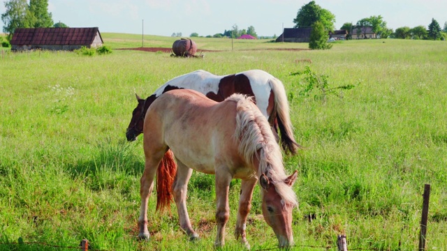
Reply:
M168 91L147 110L143 146L145 171L140 180L139 238L149 238L147 201L154 188L155 175L156 208L169 206L174 197L180 227L191 239L198 238L186 211L186 191L194 169L215 175L217 237L214 245L224 244L230 214L228 189L233 178L242 179L236 238L249 248L245 226L254 186L259 181L265 221L272 227L280 247L293 244L292 210L298 202L291 187L297 172L286 175L270 124L251 98L233 94L223 102L216 102L198 91Z

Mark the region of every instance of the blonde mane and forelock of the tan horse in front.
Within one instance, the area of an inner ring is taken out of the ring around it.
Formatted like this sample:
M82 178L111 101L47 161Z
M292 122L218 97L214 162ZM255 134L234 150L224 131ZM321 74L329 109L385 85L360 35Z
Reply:
M259 160L257 175L265 174L279 196L290 204L298 204L295 192L284 180L281 149L276 142L270 124L253 102L253 98L242 94L233 94L227 100L237 102L235 139L239 140L239 153L249 163Z

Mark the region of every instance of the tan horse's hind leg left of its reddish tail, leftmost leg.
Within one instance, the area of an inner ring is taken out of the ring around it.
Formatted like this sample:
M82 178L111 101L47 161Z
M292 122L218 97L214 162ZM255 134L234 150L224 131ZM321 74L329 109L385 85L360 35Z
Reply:
M149 231L147 231L147 201L149 201L149 195L151 195L154 189L154 176L163 154L164 151L150 155L145 152L145 172L143 172L140 179L141 206L140 218L138 218L138 228L140 229L138 238L140 239L149 239Z

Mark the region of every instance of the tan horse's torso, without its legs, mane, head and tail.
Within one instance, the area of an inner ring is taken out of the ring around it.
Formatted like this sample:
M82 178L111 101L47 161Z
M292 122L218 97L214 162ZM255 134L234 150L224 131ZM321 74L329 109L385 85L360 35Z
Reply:
M198 91L168 91L148 109L145 142L161 142L159 147L167 146L184 165L200 172L214 174L217 162L242 165L235 149L236 109L232 98L215 102Z

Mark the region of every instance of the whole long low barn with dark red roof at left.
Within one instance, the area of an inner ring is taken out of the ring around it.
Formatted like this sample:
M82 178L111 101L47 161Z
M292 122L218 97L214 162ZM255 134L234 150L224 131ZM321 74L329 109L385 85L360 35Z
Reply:
M100 47L103 38L98 27L92 28L19 28L11 39L11 50L77 50Z

